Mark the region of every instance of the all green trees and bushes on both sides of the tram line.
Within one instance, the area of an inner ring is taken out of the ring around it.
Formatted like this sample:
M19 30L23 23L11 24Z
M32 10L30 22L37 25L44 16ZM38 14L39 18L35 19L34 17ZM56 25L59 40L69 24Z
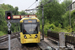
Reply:
M49 0L42 0L44 4ZM39 2L39 5L41 5ZM69 33L75 31L75 10L71 13L71 26L69 24L69 11L66 11L67 6L72 3L72 0L64 0L59 3L59 0L53 0L52 2L44 5L44 32L47 35L47 31L65 32ZM36 15L40 19L40 30L42 31L42 10L39 7ZM7 34L7 22L5 20L5 11L12 11L13 15L25 15L25 11L18 11L18 7L13 7L9 4L0 4L0 36ZM12 23L12 32L20 31L20 25L17 23Z

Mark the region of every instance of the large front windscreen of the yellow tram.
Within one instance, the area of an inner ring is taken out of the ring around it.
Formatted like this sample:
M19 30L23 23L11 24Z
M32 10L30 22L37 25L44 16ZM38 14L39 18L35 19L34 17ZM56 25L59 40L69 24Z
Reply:
M23 33L24 34L37 34L38 33L37 24L24 24Z

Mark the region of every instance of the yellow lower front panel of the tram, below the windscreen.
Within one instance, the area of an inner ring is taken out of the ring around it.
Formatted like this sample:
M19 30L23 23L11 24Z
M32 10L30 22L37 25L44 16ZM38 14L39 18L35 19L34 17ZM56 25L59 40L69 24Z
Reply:
M26 35L27 39L24 38L24 36ZM22 32L20 32L20 41L22 44L25 43L39 43L40 42L40 32L37 34L37 38L35 38L36 34L23 34Z

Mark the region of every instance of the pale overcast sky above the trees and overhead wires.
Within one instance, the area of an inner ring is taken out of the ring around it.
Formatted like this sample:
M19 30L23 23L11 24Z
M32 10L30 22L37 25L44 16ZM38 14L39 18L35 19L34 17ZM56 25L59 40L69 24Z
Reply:
M10 4L12 5L13 7L18 7L19 8L19 11L21 10L25 10L25 9L28 9L28 7L30 5L32 5L36 0L0 0L0 4L2 3L5 3L5 4ZM36 2L34 5L32 5L29 9L33 9L35 8L39 1L41 0L38 0L38 2ZM60 0L60 2L62 2L63 0ZM73 0L75 1L75 0Z

